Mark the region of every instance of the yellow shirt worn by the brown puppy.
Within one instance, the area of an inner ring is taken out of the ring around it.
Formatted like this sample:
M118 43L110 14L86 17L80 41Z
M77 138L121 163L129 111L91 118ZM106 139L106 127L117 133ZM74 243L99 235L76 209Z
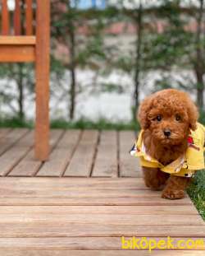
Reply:
M131 156L139 157L140 165L145 167L160 168L160 170L171 175L192 177L196 170L204 169L204 142L205 128L201 123L197 124L197 129L191 131L188 137L188 148L183 156L180 156L169 165L162 165L159 161L146 153L143 142L144 130L141 130L139 137L132 147Z

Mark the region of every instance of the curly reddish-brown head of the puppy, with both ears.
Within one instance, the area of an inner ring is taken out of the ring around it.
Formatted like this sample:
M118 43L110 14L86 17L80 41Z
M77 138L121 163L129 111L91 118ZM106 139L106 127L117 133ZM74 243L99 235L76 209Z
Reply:
M139 106L141 128L161 144L177 145L197 128L198 109L183 91L167 89L148 96Z

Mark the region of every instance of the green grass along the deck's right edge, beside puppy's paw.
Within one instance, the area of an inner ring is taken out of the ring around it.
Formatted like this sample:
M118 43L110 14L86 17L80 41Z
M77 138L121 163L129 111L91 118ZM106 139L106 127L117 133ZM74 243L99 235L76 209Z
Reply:
M198 170L194 177L194 181L187 189L189 197L194 202L199 214L205 221L205 171Z

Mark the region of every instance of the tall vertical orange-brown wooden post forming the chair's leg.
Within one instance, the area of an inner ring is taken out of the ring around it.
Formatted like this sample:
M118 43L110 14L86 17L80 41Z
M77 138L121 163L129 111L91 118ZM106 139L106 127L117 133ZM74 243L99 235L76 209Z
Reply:
M50 1L37 0L35 157L49 155Z

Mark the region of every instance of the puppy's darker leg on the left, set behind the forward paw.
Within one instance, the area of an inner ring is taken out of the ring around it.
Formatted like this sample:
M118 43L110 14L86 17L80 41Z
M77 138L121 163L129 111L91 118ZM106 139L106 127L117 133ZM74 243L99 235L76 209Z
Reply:
M162 172L158 168L142 167L144 173L144 183L152 190L162 190L163 185L170 175Z

